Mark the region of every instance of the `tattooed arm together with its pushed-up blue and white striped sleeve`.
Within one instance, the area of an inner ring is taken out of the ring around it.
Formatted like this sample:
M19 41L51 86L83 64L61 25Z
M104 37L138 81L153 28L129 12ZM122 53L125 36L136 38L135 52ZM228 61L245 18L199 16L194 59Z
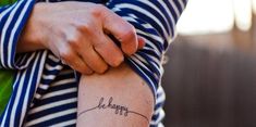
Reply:
M146 127L149 125L147 119L150 125L161 122L156 112L151 123L154 106L161 105L154 99L163 73L163 53L175 36L174 27L185 3L186 0L110 0L107 7L134 25L137 34L146 39L146 46L126 58L121 67L111 68L103 75L82 77L78 126ZM110 99L113 104L127 107L136 115L129 113L127 117L122 117L114 114L108 106Z

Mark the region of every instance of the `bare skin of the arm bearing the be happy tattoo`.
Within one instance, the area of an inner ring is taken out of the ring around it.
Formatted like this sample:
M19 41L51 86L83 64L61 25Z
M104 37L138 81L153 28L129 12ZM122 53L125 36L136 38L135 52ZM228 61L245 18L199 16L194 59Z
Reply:
M81 78L78 127L147 127L153 109L149 87L125 64Z

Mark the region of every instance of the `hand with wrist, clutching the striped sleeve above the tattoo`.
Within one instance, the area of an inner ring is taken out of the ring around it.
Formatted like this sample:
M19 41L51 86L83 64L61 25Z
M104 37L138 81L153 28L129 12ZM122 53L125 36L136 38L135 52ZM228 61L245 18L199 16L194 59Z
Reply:
M121 43L121 49L108 35ZM37 3L21 37L29 47L49 49L83 74L119 66L144 40L135 28L100 4L89 2ZM33 45L34 43L34 45ZM27 47L29 49L29 47ZM22 48L21 48L22 49ZM123 54L124 53L124 54Z

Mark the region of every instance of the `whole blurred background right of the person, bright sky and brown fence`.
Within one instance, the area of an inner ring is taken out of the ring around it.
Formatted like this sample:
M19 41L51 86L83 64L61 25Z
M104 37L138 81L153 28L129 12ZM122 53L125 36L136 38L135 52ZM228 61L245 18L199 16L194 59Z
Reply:
M256 0L188 0L178 31L166 127L256 127Z

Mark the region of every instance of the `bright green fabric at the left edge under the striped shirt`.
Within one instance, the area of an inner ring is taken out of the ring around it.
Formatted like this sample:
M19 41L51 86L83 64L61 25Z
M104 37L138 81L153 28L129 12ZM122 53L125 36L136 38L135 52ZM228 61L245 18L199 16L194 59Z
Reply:
M12 93L13 71L0 69L0 114L3 112Z

